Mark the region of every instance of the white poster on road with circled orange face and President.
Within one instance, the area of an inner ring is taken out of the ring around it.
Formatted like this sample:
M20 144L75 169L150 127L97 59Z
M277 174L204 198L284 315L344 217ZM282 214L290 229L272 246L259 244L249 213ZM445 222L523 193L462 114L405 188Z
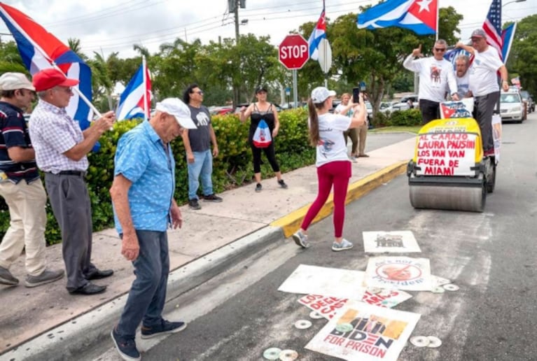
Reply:
M430 291L433 285L428 258L371 257L365 269L368 287Z

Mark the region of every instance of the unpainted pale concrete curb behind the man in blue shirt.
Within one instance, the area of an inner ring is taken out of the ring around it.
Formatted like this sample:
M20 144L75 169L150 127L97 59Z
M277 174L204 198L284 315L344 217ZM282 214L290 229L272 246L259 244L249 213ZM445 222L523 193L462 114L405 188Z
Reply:
M239 259L278 241L284 236L281 228L265 226L237 241L218 248L203 257L170 272L166 301L196 288L236 264ZM88 313L48 330L20 344L3 355L0 361L76 360L105 339L120 318L128 294L116 297Z

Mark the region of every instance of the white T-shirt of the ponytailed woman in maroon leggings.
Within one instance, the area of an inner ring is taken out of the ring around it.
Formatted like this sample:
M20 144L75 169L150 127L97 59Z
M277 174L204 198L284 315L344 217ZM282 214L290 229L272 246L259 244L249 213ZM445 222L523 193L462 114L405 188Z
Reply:
M343 132L349 129L350 125L351 118L345 115L330 113L319 115L320 139L316 149L316 167L335 160L350 162L343 138Z

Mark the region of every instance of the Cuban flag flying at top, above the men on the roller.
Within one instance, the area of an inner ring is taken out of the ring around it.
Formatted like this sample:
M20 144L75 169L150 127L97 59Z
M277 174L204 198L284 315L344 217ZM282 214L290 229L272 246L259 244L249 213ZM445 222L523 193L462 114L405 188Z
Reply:
M359 14L356 24L358 29L402 27L419 35L436 34L438 0L387 0Z

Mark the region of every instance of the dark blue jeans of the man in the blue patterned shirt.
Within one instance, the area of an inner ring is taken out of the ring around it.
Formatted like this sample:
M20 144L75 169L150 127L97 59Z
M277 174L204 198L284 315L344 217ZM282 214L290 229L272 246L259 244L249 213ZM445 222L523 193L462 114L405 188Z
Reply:
M169 274L167 233L137 230L136 235L140 245L139 256L132 262L136 279L132 282L117 327L123 339L134 339L140 323L145 327L160 325L166 300Z

